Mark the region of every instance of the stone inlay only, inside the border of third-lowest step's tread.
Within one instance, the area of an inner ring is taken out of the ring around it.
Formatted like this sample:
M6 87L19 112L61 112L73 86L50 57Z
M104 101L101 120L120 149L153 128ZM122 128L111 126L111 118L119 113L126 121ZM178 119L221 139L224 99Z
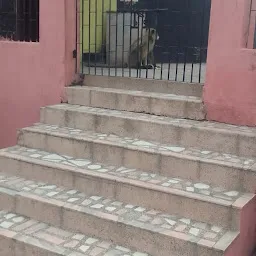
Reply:
M176 177L165 177L155 173L147 173L136 169L102 165L101 163L93 163L89 159L75 159L70 156L57 155L25 147L14 146L11 148L4 149L2 151L7 151L11 154L30 157L32 159L40 159L46 162L54 162L73 167L78 167L95 173L107 173L113 176L139 180L147 182L149 184L158 185L159 187L174 188L178 190L193 192L199 195L211 196L217 199L229 201L230 203L235 202L238 198L245 195L244 193L238 191L210 186L209 184L206 183L193 183L191 181Z

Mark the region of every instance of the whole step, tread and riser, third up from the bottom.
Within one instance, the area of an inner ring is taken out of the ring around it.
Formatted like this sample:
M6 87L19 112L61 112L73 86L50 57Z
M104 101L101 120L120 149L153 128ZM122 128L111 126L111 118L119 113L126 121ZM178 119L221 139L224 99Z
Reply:
M23 147L2 150L0 163L1 170L9 174L54 182L88 195L107 195L126 203L183 214L229 229L239 229L241 211L251 211L256 201L254 194Z

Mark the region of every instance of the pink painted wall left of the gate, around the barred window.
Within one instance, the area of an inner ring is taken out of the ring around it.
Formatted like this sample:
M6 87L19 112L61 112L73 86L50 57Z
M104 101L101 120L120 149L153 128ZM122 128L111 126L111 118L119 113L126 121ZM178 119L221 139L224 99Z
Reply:
M0 41L0 148L39 121L40 107L61 102L75 72L73 49L75 0L40 1L39 43Z

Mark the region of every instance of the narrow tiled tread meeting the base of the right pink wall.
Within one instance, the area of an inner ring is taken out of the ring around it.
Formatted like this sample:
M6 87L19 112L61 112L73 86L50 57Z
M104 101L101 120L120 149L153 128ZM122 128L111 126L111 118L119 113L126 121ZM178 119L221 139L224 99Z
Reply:
M173 125L176 127L187 127L191 129L192 128L214 129L220 132L256 137L255 127L236 126L236 125L217 123L212 121L198 121L198 120L190 120L190 119L182 119L182 118L172 118L172 117L156 116L156 115L144 114L144 113L129 112L129 111L123 111L123 110L111 110L111 109L87 107L87 106L81 106L81 105L71 105L71 104L65 104L65 103L53 105L53 106L47 106L46 108L60 109L60 110L67 110L67 111L79 111L82 113L91 113L91 114L104 115L104 116L115 116L115 117L120 117L125 119L157 122L162 124Z

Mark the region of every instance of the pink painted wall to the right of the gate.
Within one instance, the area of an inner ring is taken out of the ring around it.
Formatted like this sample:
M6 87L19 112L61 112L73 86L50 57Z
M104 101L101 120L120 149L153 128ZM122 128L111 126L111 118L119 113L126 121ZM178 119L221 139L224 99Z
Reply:
M256 50L247 48L253 39L250 2L212 0L204 88L209 120L256 125Z

